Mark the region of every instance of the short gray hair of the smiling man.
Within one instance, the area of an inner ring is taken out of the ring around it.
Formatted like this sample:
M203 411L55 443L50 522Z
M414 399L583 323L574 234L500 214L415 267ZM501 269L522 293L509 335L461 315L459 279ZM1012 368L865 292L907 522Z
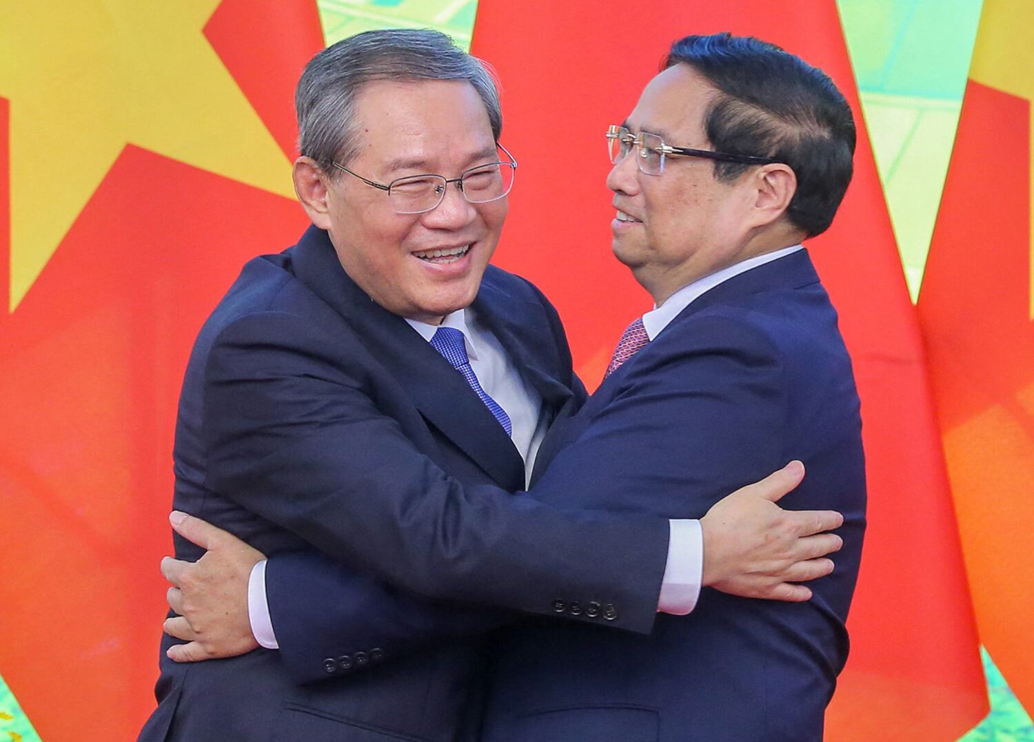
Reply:
M366 31L317 54L298 81L298 149L325 173L335 173L333 162L344 164L358 154L356 98L364 85L377 80L467 81L481 96L498 142L499 92L484 62L431 29Z

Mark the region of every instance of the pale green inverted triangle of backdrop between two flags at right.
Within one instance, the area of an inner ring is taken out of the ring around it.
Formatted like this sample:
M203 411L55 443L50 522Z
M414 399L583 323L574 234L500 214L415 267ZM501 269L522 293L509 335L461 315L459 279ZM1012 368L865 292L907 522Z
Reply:
M981 0L839 0L912 301L951 158Z

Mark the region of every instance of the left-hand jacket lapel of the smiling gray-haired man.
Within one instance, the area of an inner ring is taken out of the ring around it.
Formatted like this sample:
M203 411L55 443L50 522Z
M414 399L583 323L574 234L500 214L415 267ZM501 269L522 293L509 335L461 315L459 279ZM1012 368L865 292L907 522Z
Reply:
M355 330L428 423L500 487L523 489L524 464L510 436L448 361L348 277L327 233L310 226L292 260L299 280Z

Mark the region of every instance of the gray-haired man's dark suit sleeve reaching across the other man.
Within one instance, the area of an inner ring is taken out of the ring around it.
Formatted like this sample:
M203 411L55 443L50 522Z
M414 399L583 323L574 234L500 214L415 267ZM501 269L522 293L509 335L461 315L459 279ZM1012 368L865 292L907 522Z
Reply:
M463 487L378 407L368 366L346 357L360 351L283 312L225 327L206 367L207 485L410 593L546 615L604 601L615 625L650 630L663 518Z

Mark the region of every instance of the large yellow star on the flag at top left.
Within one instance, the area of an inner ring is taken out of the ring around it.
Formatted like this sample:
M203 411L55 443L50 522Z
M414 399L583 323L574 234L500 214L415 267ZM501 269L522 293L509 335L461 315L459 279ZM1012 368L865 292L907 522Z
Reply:
M219 2L0 0L10 311L126 145L294 197L286 157L204 35Z

